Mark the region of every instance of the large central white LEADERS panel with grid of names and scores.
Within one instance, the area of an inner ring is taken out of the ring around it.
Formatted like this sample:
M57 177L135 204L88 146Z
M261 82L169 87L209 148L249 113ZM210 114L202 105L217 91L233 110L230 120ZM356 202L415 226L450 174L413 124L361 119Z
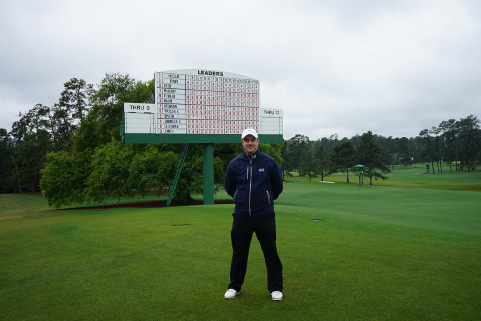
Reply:
M154 78L155 133L263 133L258 79L201 69L160 71Z

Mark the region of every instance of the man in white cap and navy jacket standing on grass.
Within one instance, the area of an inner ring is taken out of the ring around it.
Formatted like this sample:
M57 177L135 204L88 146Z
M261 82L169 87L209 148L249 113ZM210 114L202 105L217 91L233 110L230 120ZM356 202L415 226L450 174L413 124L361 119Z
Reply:
M261 243L267 266L267 286L273 300L282 300L282 263L276 247L274 199L282 192L282 171L276 160L259 151L255 129L244 130L244 152L232 159L225 172L225 190L234 199L232 261L225 298L240 292L246 276L252 234Z

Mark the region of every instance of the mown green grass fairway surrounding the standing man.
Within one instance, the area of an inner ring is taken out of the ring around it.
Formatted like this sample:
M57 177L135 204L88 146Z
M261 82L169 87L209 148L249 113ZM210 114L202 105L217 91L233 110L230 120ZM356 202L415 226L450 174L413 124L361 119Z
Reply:
M391 175L391 186L287 178L276 203L279 302L255 238L242 292L223 298L232 205L54 211L39 195L1 194L0 315L480 319L481 175L462 174Z

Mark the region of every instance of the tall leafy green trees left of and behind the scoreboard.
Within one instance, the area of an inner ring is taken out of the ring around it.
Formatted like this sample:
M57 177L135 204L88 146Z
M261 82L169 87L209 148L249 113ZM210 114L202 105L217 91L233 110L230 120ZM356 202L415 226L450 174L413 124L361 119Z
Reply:
M39 103L19 113L10 132L0 128L0 192L42 192L56 207L165 193L183 144L122 143L119 127L128 101L153 103L153 80L106 73L94 89L72 78L52 106ZM281 143L260 147L282 162ZM214 144L214 150L214 179L223 182L242 145ZM193 193L202 193L200 144L190 144L174 199Z

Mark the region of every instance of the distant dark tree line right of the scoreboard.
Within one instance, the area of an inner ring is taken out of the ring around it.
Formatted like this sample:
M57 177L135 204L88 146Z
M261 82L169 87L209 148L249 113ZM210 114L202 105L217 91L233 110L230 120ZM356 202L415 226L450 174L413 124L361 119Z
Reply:
M428 163L432 172L475 170L481 161L480 138L480 121L474 115L441 121L410 138L384 137L367 131L351 138L339 139L334 134L313 141L297 134L284 145L283 167L300 175L319 175L321 180L341 171L349 182L349 170L362 164L370 184L372 178L386 179L383 174L395 164Z

